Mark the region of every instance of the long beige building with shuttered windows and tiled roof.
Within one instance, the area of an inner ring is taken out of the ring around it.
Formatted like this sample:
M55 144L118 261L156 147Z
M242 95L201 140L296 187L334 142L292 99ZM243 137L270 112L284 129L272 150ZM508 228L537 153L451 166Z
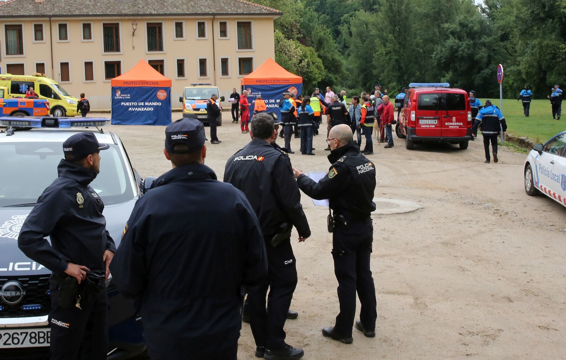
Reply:
M43 73L109 109L110 79L145 59L172 80L173 108L191 83L228 98L275 58L281 15L244 0L9 0L0 2L1 73Z

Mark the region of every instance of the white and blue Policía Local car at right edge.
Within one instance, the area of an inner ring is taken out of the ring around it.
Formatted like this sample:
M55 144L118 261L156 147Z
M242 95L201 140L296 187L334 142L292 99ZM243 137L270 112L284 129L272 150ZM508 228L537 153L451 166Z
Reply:
M566 206L566 131L533 146L525 160L525 192L544 193Z

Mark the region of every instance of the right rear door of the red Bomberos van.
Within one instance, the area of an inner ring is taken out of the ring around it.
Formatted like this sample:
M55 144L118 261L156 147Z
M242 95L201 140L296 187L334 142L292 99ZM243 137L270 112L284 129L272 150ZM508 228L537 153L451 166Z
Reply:
M463 92L442 91L442 111L440 112L441 137L465 137L468 127L468 111L466 94Z

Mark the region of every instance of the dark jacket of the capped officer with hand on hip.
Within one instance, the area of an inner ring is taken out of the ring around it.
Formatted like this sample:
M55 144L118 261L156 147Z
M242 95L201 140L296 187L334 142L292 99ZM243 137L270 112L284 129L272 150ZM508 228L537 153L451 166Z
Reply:
M105 270L104 252L116 247L106 230L104 204L89 185L98 173L66 160L61 160L57 171L59 177L25 219L18 247L54 273L65 271L67 262Z

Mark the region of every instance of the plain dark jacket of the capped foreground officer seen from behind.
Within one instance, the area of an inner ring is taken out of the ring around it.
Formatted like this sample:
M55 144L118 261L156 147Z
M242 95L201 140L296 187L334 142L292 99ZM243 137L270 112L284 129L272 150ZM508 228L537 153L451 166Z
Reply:
M139 300L149 356L228 356L241 328L241 286L267 276L246 196L204 164L166 172L136 202L110 270Z

